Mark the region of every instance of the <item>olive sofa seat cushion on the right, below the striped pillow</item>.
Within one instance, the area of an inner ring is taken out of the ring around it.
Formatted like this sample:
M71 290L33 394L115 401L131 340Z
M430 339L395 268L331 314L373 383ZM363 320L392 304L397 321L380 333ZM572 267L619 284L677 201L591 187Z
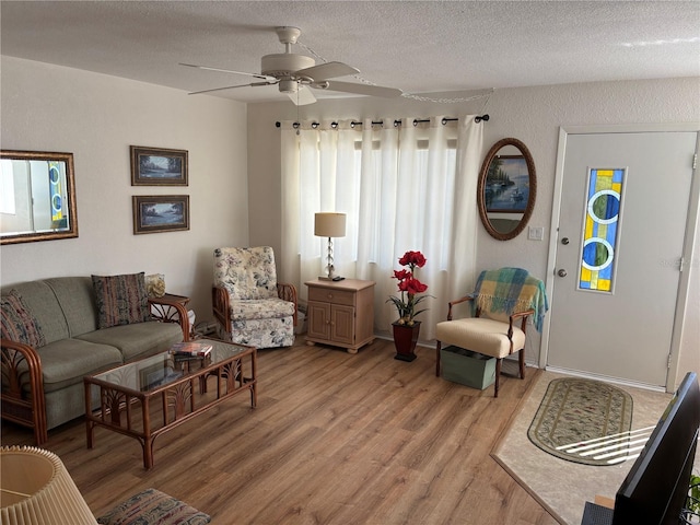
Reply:
M177 323L151 320L91 331L78 339L116 347L127 362L164 352L183 340L183 329Z

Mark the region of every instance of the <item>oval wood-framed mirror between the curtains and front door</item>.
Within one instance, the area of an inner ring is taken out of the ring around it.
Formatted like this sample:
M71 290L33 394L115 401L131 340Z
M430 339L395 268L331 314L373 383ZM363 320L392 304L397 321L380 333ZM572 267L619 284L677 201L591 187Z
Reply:
M535 162L517 139L499 140L489 150L477 186L477 206L486 231L493 238L516 237L527 225L537 197Z

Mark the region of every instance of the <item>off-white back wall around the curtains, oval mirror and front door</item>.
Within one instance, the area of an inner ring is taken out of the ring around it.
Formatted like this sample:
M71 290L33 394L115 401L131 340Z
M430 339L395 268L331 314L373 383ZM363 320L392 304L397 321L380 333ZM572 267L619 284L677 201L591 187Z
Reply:
M559 128L574 125L622 125L700 121L700 79L669 79L626 82L522 88L495 91L488 104L474 101L460 104L438 104L411 100L347 98L323 101L301 106L299 118L375 118L459 116L488 113L485 122L482 152L498 140L514 137L530 150L537 170L537 202L529 224L545 228L544 241L528 241L527 231L512 241L500 242L479 229L477 238L459 240L474 244L477 266L522 266L545 278L549 246L553 180ZM298 119L298 108L289 102L252 104L248 106L248 170L250 180L250 243L280 246L278 206L265 207L270 198L279 202L279 137L276 120ZM271 196L271 197L270 197ZM475 196L476 199L476 196ZM311 232L310 232L311 235ZM697 243L700 244L700 243ZM691 290L679 370L700 369L700 257L691 264ZM387 279L389 276L387 276ZM533 330L534 331L534 330ZM537 362L538 337L527 348L529 362Z

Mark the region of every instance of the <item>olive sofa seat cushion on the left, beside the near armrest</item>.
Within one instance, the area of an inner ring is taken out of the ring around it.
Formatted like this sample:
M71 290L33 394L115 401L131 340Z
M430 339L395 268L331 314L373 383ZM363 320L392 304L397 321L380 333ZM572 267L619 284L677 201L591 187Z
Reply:
M96 374L121 364L121 353L115 347L80 339L55 341L37 350L42 360L44 392L52 392L82 383L83 376Z

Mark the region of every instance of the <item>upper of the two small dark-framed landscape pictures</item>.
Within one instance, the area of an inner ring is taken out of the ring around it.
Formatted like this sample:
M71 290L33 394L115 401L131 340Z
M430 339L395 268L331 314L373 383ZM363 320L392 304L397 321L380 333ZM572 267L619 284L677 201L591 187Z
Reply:
M131 148L131 186L187 186L187 151Z

